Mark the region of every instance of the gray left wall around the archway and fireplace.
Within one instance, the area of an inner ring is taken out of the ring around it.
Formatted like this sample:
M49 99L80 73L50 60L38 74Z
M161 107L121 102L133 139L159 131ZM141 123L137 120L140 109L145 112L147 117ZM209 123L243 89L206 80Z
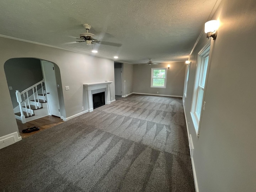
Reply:
M66 118L83 112L84 83L114 81L114 62L111 60L2 37L0 44L0 137L18 131L4 73L4 63L10 58L40 58L58 65ZM70 90L66 91L64 86L69 86ZM114 96L112 83L110 97Z

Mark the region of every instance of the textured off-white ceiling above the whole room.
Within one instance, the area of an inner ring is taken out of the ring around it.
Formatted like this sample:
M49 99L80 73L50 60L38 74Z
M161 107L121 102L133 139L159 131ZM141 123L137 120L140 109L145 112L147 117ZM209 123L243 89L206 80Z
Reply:
M91 33L96 56L132 64L185 61L216 0L1 0L0 34L92 54L76 43Z

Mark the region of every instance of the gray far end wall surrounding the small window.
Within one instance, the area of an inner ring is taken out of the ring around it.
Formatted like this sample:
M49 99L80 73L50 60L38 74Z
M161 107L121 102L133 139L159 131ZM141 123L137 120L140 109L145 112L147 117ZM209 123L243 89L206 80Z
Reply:
M167 67L166 88L150 88L151 68ZM184 88L185 62L162 63L158 65L134 65L133 92L182 96Z

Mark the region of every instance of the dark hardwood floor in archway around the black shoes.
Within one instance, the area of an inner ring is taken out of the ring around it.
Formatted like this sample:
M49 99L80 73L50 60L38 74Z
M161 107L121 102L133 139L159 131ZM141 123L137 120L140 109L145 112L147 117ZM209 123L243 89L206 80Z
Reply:
M22 122L20 120L17 120L17 119L16 119L16 122L17 122L17 125L18 125L20 136L23 139L23 138L26 138L26 137L31 136L33 134L36 134L36 133L38 133L42 130L45 130L45 129L51 128L55 125L58 125L60 123L63 123L64 121L59 117L49 115L49 116L42 117L40 119L36 119L36 120L30 121L30 122L26 122L24 124L22 124ZM22 133L22 130L27 129L27 128L31 128L31 127L34 127L34 126L40 128L40 130L31 132L31 133Z

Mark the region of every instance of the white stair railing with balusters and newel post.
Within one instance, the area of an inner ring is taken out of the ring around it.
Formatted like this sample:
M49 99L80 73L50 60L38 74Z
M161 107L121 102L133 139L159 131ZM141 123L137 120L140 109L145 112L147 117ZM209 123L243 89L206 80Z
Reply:
M29 96L28 96L28 91L29 90L32 90L33 91L33 97L34 97L34 101L35 101L35 107L36 109L39 107L37 106L36 102L39 102L39 99L38 99L38 85L41 85L41 88L42 88L42 94L43 94L43 98L44 98L44 90L43 90L43 82L44 82L44 79L32 86L30 86L29 88L25 89L24 91L20 92L19 90L16 90L16 98L17 98L17 102L19 103L19 106L20 106L20 114L21 114L21 119L24 118L25 120L25 116L23 114L23 110L22 110L22 98L21 98L21 95L23 95L24 97L24 103L25 103L25 108L26 108L26 114L27 116L32 116L32 113L31 113L31 107L30 107L30 101L29 101ZM40 87L39 87L40 88ZM36 90L36 92L35 92ZM27 98L26 98L27 97ZM37 101L36 101L37 99ZM26 103L26 100L28 101L28 107L27 107L27 103ZM45 98L44 98L44 102L45 102ZM28 113L28 108L30 110L30 114ZM25 120L26 122L26 120ZM23 123L23 121L22 121Z

